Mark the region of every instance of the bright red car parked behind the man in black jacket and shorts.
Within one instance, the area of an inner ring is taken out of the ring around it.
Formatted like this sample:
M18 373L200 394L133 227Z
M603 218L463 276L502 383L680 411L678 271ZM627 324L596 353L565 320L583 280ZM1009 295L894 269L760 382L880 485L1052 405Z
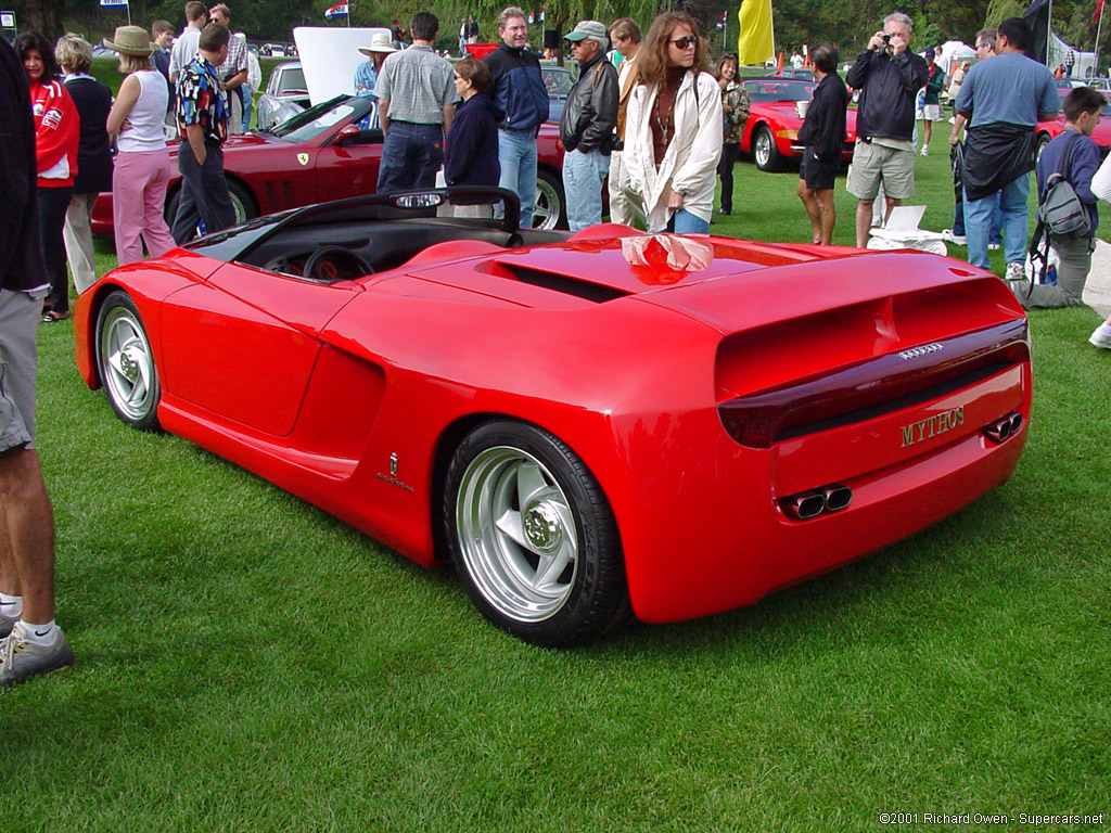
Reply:
M810 101L818 84L792 78L747 78L744 90L752 102L752 114L744 124L741 151L751 153L761 171L779 171L787 161L802 159L799 128L802 119L794 109L797 101ZM857 145L857 111L845 113L844 162L852 161Z

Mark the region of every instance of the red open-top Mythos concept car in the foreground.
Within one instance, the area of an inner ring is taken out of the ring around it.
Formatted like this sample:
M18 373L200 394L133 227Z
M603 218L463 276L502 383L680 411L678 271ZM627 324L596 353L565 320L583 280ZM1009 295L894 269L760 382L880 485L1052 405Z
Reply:
M1029 331L993 274L517 211L376 195L121 267L77 300L80 373L553 646L750 604L1018 464Z

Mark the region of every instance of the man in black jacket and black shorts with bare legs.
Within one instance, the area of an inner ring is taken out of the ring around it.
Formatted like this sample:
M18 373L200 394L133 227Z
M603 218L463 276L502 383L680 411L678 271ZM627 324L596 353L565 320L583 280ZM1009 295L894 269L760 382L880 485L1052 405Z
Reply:
M833 204L833 178L841 168L844 152L845 110L849 93L837 73L837 50L823 43L810 53L818 89L799 131L805 148L799 169L799 199L814 227L812 243L829 245L833 239L837 209Z

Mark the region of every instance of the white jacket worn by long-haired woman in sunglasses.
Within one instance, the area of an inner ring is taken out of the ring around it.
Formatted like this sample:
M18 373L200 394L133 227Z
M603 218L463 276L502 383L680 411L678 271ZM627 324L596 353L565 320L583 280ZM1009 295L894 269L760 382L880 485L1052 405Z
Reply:
M654 86L633 88L623 151L629 181L648 218L648 230L658 232L667 227L673 213L668 208L672 191L683 194L683 209L709 222L721 160L721 90L709 72L683 76L675 93L675 133L659 168L652 152L650 121L657 93Z

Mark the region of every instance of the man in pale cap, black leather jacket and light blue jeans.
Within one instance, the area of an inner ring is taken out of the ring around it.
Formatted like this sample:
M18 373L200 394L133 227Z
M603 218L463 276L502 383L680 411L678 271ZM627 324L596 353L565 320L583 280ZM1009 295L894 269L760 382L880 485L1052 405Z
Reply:
M559 132L563 154L567 221L579 231L602 221L602 184L610 170L618 123L618 71L605 60L609 36L597 20L580 20L564 36L579 62L579 80L567 96Z

